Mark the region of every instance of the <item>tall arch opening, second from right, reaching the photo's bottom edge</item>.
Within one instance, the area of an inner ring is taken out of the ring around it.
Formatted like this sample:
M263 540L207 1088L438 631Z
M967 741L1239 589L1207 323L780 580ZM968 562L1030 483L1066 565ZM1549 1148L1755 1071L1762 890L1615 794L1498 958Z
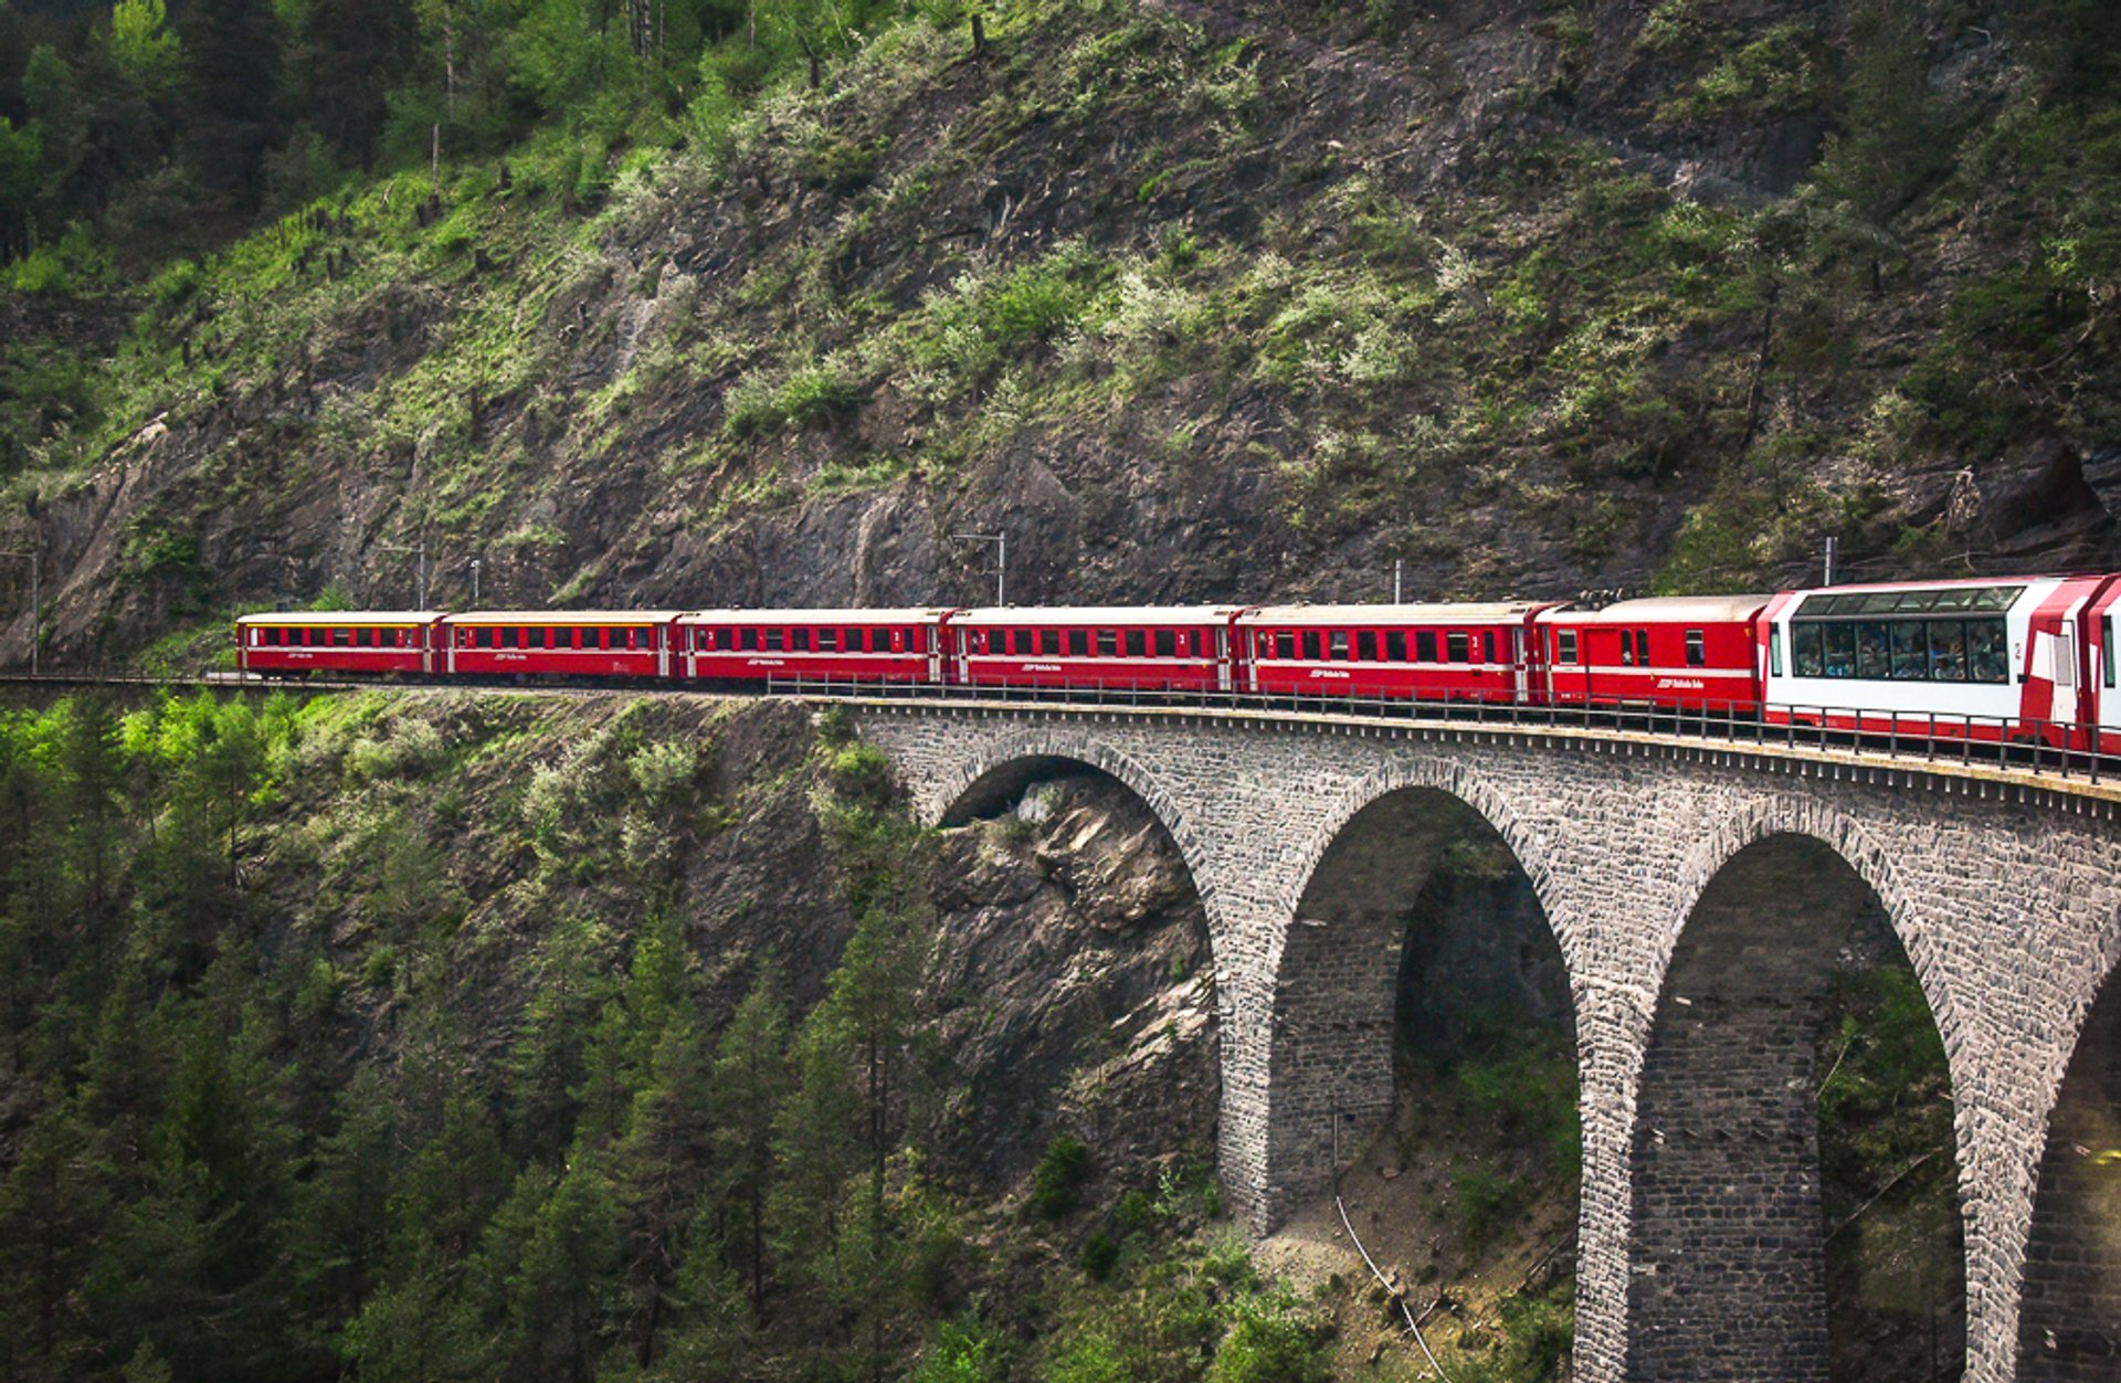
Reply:
M1871 885L1771 834L1710 880L1635 1103L1640 1383L1917 1383L1966 1358L1951 1080Z

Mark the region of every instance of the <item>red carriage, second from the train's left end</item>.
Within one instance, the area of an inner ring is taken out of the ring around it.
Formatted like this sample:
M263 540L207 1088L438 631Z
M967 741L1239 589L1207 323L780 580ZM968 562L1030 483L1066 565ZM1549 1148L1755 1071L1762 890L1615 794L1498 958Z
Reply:
M458 677L668 677L681 611L473 611L441 622Z

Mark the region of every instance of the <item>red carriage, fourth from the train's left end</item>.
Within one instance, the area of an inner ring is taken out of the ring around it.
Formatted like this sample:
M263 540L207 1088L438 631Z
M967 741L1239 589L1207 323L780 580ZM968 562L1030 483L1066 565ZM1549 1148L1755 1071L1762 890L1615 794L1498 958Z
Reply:
M1230 692L1237 607L974 609L950 615L961 685Z

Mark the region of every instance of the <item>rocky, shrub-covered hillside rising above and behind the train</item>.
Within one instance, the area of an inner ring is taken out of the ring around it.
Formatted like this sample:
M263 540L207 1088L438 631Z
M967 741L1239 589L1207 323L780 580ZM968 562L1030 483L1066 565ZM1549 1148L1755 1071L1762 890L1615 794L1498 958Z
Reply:
M0 8L4 541L57 660L420 545L505 605L974 598L997 524L1022 600L2113 562L2117 25Z

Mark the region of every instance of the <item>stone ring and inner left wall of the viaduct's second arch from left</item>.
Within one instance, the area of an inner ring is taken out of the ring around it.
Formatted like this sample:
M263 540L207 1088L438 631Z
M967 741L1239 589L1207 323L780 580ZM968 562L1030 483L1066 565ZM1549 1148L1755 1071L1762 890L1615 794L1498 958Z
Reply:
M1266 971L1273 976L1273 1012L1266 1033L1266 1194L1254 1209L1256 1228L1279 1222L1304 1194L1336 1171L1334 1150L1347 1160L1391 1114L1396 1097L1393 1031L1406 914L1372 904L1349 906L1332 897L1326 921L1307 906L1326 901L1347 876L1336 848L1362 848L1362 838L1391 840L1404 851L1400 901L1413 906L1427 880L1436 851L1468 829L1502 842L1525 872L1533 897L1561 948L1570 976L1570 1014L1576 1014L1574 929L1563 921L1555 876L1538 836L1508 800L1480 774L1432 757L1393 755L1328 795L1317 825L1292 853L1277 880ZM1396 861L1398 863L1398 861ZM1355 885L1364 889L1364 885Z

